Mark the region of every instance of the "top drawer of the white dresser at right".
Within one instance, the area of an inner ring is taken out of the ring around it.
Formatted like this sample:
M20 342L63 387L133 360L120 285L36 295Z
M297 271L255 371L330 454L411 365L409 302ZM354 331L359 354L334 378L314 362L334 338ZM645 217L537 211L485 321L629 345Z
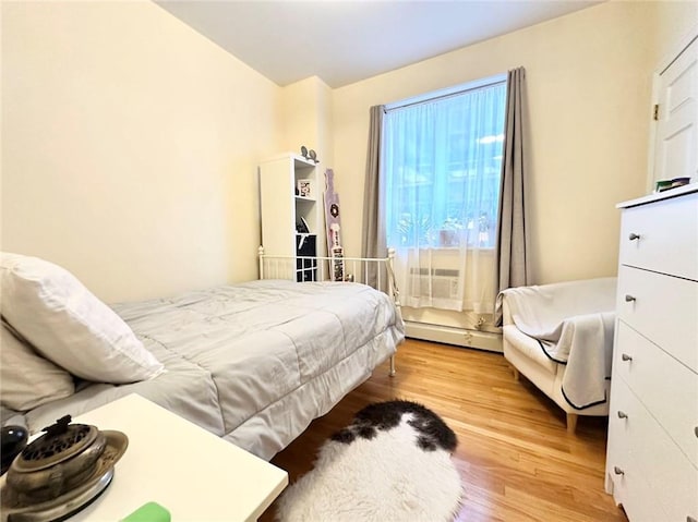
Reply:
M622 265L698 280L698 193L626 208Z

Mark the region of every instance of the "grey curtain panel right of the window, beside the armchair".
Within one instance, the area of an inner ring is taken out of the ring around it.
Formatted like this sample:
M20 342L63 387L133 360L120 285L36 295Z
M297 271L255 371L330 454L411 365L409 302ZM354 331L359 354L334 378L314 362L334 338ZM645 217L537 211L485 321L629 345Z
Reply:
M507 109L502 161L502 186L497 213L496 276L498 291L531 283L526 221L526 167L528 161L526 71L513 69L507 76ZM494 311L502 325L502 309Z

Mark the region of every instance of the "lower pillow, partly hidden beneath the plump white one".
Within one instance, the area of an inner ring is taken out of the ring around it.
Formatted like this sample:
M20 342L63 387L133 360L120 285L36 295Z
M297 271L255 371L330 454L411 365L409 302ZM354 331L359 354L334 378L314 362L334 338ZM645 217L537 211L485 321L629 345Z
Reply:
M0 337L0 398L2 405L27 411L73 394L73 378L38 355L2 324Z

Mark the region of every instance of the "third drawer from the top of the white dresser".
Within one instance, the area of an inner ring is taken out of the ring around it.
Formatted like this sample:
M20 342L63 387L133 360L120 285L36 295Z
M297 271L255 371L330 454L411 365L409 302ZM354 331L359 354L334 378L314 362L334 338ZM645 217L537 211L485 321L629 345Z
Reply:
M616 323L614 377L621 377L698 466L698 375L640 336Z

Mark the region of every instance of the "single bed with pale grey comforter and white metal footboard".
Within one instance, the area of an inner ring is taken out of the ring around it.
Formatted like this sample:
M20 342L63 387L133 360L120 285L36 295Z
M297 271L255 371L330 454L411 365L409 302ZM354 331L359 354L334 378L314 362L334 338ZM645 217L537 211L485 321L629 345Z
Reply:
M109 308L159 363L157 372L137 383L74 378L73 392L16 415L35 433L64 414L79 415L135 392L268 460L376 366L393 361L404 340L389 258L344 259L363 267L345 278L353 281L324 280L328 263L318 258L316 280L296 282L296 259L261 251L260 280L112 304ZM3 291L8 272L3 262ZM359 282L371 278L387 293ZM13 314L16 324L27 315L25 309L17 317L17 306L3 299L8 326L14 326ZM23 342L32 343L38 356L57 362L41 350L39 338L28 339L31 328L17 330L20 338L29 333ZM83 375L80 368L70 373ZM3 408L4 402L3 396Z

